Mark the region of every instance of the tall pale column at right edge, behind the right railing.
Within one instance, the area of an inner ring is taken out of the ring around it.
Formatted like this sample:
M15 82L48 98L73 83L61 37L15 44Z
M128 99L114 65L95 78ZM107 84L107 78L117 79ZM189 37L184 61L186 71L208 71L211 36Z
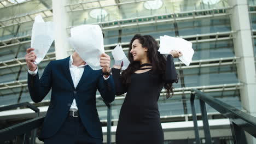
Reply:
M256 74L253 56L253 39L247 0L228 0L233 7L231 14L231 27L234 34L235 55L241 57L237 63L237 75L244 86L240 89L241 103L249 114L256 117ZM256 139L246 134L248 143L256 143Z

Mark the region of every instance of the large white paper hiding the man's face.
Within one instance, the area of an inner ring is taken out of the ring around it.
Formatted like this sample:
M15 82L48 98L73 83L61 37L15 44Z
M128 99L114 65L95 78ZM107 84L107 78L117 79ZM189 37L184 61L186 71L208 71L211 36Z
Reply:
M92 69L101 69L100 55L104 53L104 44L100 26L81 25L71 28L69 43Z

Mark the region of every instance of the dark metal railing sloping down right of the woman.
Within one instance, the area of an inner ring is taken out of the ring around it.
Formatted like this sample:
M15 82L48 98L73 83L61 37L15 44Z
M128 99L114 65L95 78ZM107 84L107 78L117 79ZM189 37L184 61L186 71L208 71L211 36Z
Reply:
M199 137L199 128L197 125L197 117L195 111L195 104L194 100L195 97L200 101L200 108L202 113L202 121L203 121L203 131L205 134L205 141L206 143L212 143L212 137L210 133L210 127L208 123L207 111L206 111L206 104L212 106L218 112L220 112L224 117L229 118L230 120L230 127L232 131L232 137L234 143L243 143L246 144L246 137L245 131L248 134L256 137L256 117L253 117L241 110L232 107L223 101L220 101L216 98L213 98L205 93L197 90L191 90L191 111L193 114L193 122L194 122L194 130L195 130L195 139L197 144L201 144L200 137Z

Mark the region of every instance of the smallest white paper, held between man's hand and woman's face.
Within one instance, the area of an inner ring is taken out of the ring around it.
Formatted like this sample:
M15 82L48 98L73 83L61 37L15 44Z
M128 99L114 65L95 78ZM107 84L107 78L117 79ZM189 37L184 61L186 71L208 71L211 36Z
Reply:
M112 51L112 55L113 55L114 60L115 60L115 65L120 66L121 63L123 62L124 65L122 67L122 70L127 69L128 65L130 64L130 61L126 57L121 45L115 46L115 49Z

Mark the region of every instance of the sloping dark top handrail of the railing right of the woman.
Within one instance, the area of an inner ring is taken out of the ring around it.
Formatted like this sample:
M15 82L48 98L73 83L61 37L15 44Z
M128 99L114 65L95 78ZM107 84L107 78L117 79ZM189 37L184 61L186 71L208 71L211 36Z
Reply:
M205 95L197 89L192 89L191 91L192 93L195 93L196 97L205 101L205 103L212 106L218 112L222 113L223 116L225 116L226 118L230 118L230 121L242 126L242 128L246 130L249 134L256 137L256 117L253 117L248 113L238 110L235 107L224 103L223 101L220 101L209 95Z

